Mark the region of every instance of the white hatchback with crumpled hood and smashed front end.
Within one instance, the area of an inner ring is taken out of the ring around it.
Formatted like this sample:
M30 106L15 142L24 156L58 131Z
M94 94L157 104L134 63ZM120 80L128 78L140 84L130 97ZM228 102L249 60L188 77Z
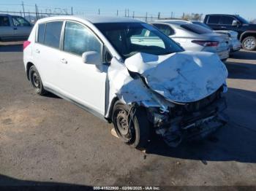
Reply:
M133 147L146 147L152 130L176 147L227 122L227 69L218 56L184 51L140 20L44 18L23 52L36 93L49 91L113 122Z

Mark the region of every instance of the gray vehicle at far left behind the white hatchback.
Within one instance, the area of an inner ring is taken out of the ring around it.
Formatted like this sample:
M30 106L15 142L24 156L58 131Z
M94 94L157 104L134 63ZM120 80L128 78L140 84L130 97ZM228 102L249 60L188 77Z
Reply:
M15 15L0 15L0 41L25 40L33 25L23 17Z

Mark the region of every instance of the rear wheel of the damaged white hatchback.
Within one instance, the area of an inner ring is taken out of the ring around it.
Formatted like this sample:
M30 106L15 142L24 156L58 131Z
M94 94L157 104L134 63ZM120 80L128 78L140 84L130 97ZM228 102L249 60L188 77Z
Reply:
M42 80L37 71L36 66L31 66L29 69L29 81L31 85L34 87L34 90L39 95L45 95L47 91L45 90L44 86L42 85Z

